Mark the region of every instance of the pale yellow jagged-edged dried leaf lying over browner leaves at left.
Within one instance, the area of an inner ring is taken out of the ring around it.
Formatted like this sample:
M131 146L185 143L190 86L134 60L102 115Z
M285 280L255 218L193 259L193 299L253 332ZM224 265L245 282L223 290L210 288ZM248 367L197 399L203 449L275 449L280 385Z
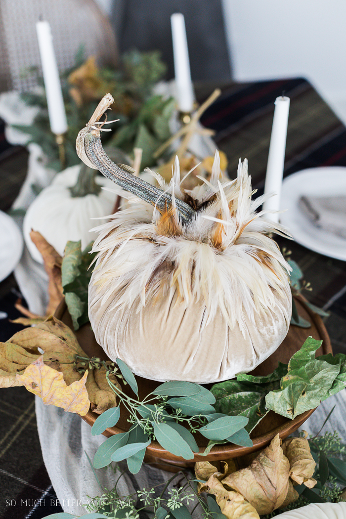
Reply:
M28 391L40 397L46 405L62 407L70 413L84 416L89 411L90 401L85 387L88 372L80 380L67 386L63 374L46 366L43 357L25 368L22 375L16 376Z

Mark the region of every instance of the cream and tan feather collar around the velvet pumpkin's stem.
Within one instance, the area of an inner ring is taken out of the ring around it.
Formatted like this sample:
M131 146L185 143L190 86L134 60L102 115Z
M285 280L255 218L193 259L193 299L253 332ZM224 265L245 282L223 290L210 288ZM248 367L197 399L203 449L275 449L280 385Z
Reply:
M98 252L93 283L103 290L103 299L116 292L114 309L155 305L158 298L176 291L176 304L186 307L203 299L202 326L221 312L231 329L239 324L244 333L245 317L254 322L256 313L273 310L274 292L287 297L289 265L269 235L286 235L279 225L266 220L256 209L264 196L251 200L251 176L247 160L239 161L236 180L226 180L215 153L210 181L192 190L182 189L176 158L169 185L151 172L159 186L172 195L165 209L140 200L124 190L128 208L112 215L94 230ZM184 179L183 179L184 180ZM182 223L176 198L196 210Z

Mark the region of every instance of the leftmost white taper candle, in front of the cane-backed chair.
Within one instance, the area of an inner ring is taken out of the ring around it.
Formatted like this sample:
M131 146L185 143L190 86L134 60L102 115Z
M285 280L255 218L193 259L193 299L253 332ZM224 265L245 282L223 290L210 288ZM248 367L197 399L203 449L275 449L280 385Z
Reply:
M47 21L37 22L36 33L46 89L50 128L53 133L59 135L67 130L67 120L49 23Z

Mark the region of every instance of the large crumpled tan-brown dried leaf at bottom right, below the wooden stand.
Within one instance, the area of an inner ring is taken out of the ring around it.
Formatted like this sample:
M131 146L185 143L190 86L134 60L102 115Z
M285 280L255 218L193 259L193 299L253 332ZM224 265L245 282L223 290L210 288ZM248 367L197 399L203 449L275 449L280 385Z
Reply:
M291 493L288 477L290 465L281 448L279 434L251 463L250 467L230 474L223 480L250 502L257 512L268 514L281 508ZM293 497L298 498L294 490Z

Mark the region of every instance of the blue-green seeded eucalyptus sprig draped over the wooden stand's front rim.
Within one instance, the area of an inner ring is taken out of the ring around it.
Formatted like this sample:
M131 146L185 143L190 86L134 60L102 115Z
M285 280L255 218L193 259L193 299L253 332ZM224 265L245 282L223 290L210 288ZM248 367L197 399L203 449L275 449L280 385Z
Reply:
M93 365L103 365L100 359L93 360ZM227 416L216 413L212 404L214 395L206 388L185 381L170 381L161 384L146 395L138 398L138 386L129 367L120 359L116 360L124 380L131 387L136 398L130 397L116 387L109 379L111 366L105 364L108 371L107 381L117 397L130 414L131 424L128 432L115 434L108 438L94 456L96 469L106 467L112 461L126 459L130 472L139 472L145 449L152 440L175 456L192 460L199 447L193 433L199 431L210 440L205 453L209 453L215 443L231 442L237 445L251 446L250 436L245 431L248 419L244 416ZM114 427L120 418L120 404L100 415L92 429L92 434L102 434L107 427Z

